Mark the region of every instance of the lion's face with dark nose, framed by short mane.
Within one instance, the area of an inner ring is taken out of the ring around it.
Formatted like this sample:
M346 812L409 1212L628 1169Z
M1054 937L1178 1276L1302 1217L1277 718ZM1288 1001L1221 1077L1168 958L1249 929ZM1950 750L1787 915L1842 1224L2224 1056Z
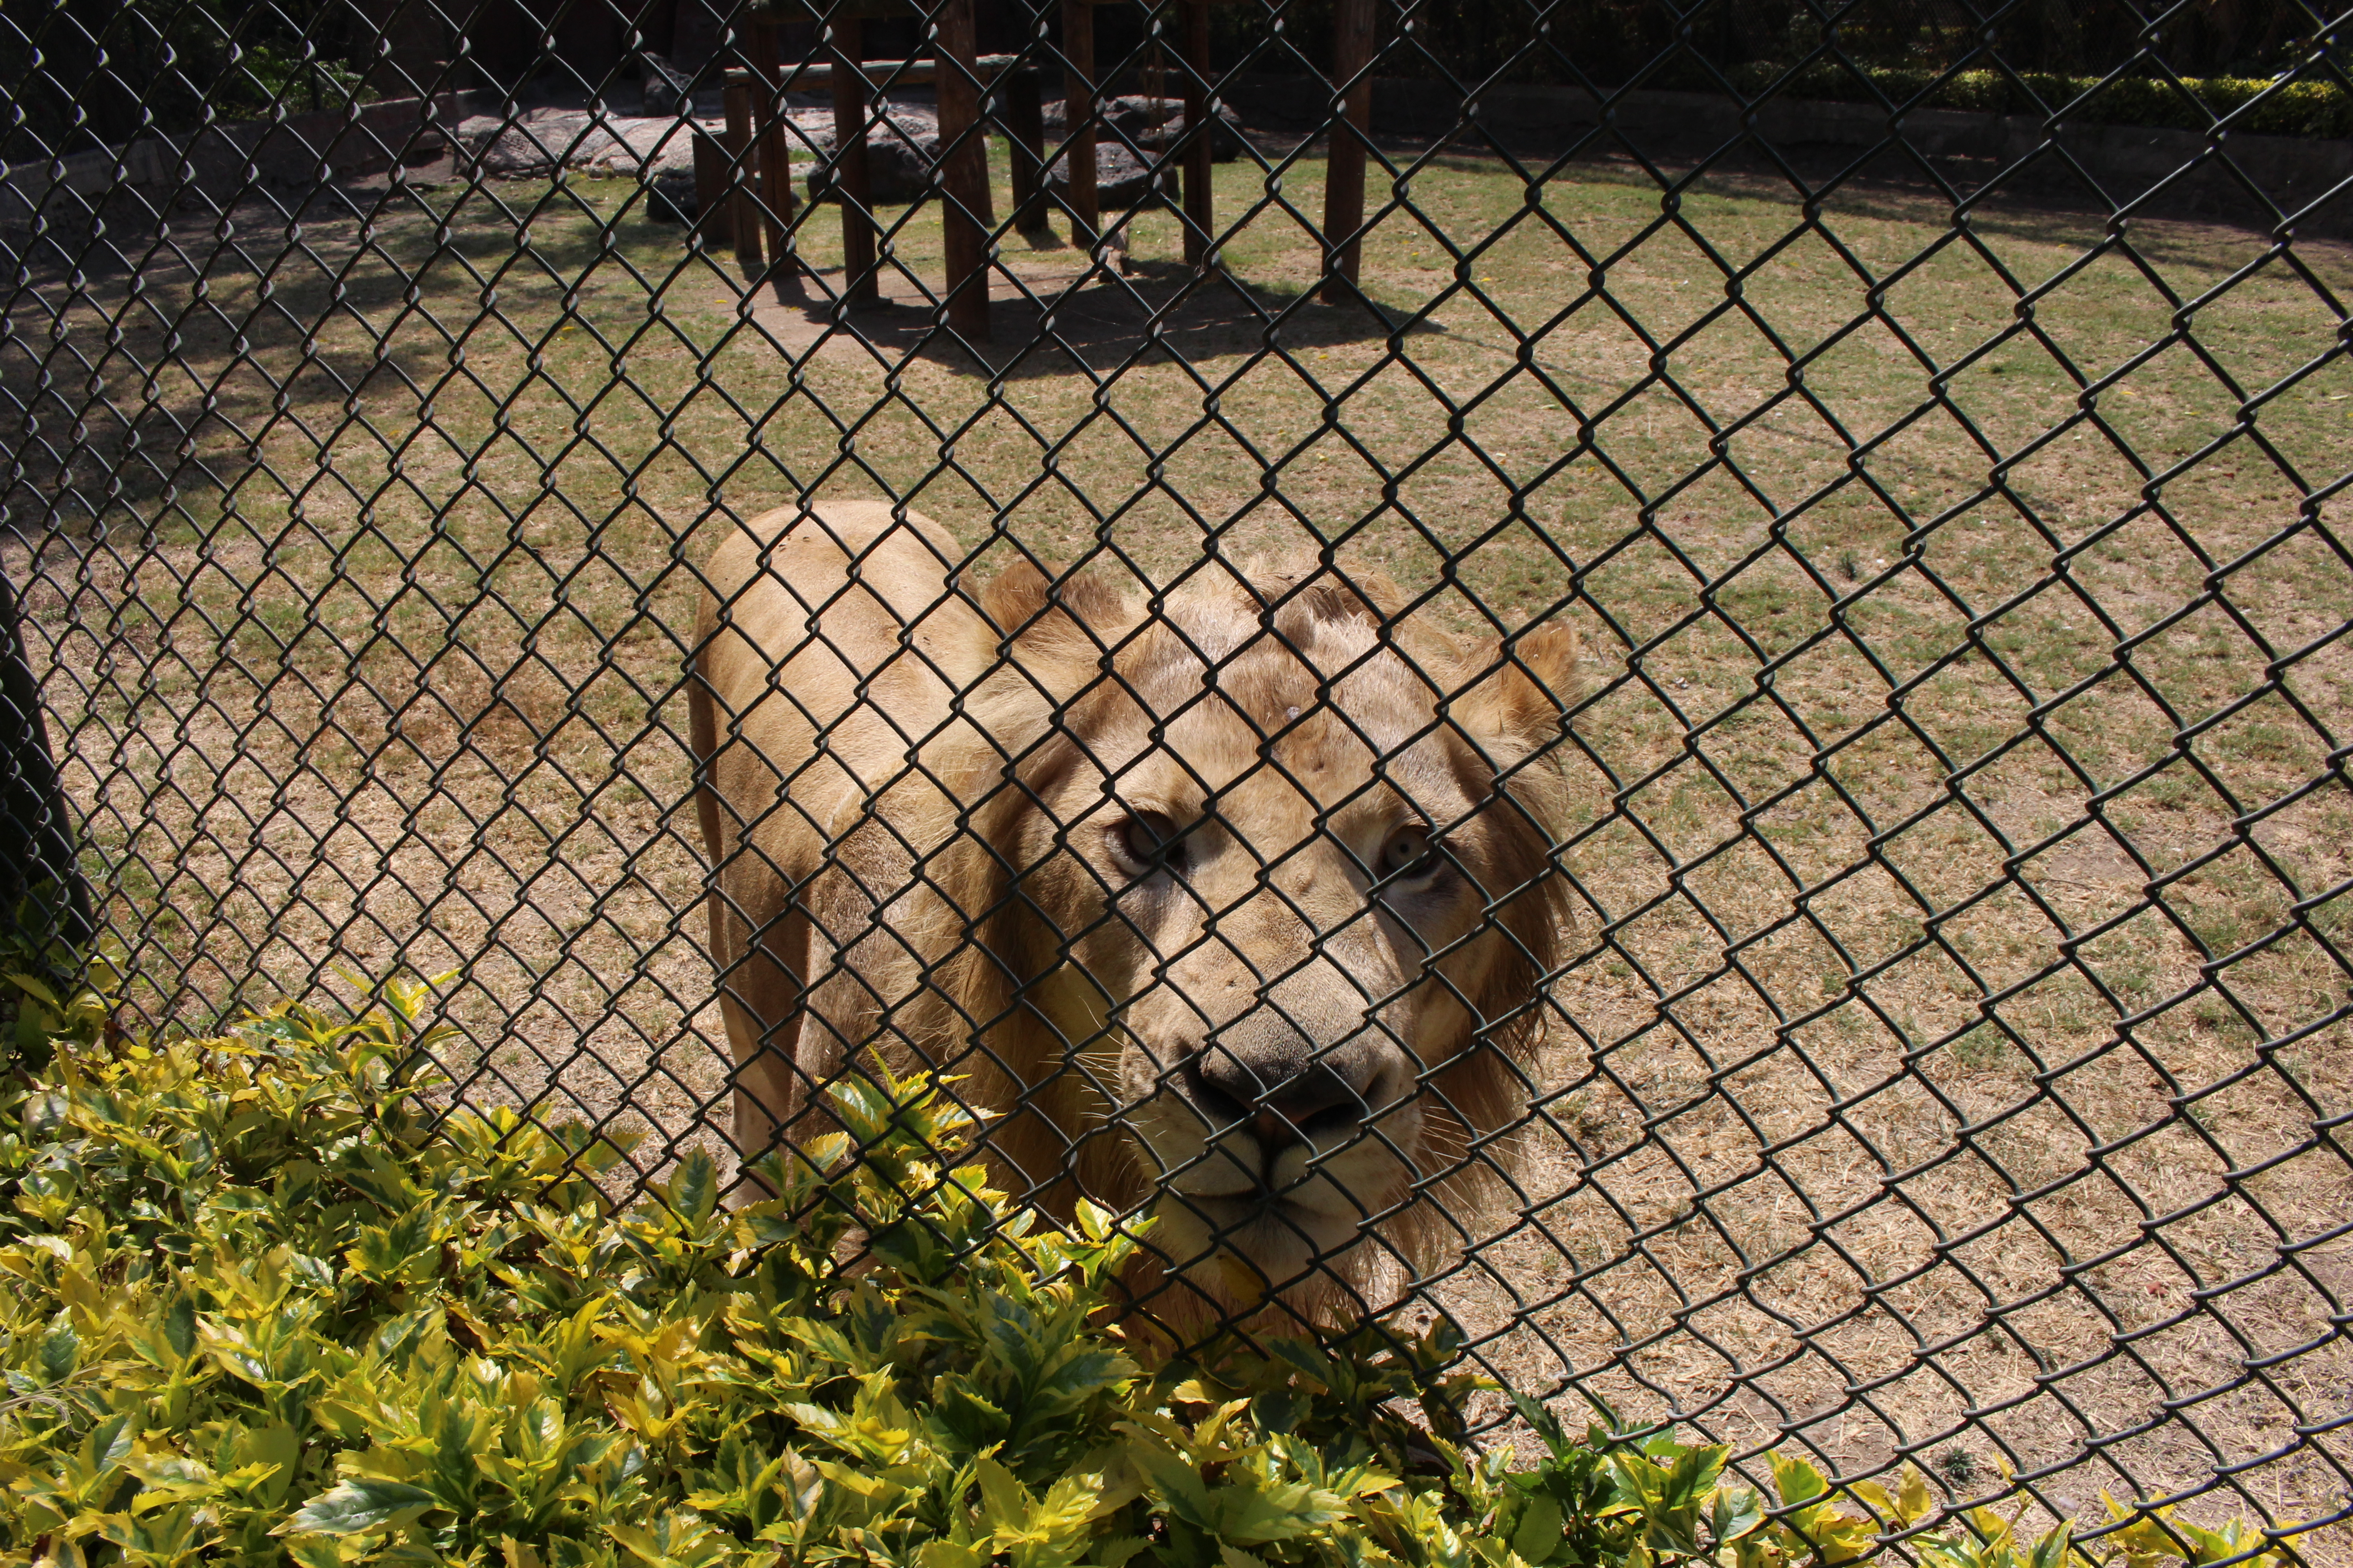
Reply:
M1558 917L1551 835L1497 788L1529 691L1308 597L1118 632L1019 769L1031 1006L1141 1147L1158 1248L1226 1300L1360 1274L1485 1159Z

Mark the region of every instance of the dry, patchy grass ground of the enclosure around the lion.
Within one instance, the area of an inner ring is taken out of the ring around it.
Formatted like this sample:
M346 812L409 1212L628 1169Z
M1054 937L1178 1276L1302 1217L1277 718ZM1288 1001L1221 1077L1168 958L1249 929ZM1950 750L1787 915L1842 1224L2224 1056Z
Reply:
M1431 1288L1499 1375L1953 1495L2089 1453L2052 1507L2242 1467L2191 1512L2344 1509L2353 567L2306 496L2353 256L1440 160L1367 247L1426 308L1388 339L1219 179L1287 353L1240 296L1181 360L1101 308L1002 378L875 353L607 244L595 183L19 294L5 564L141 1004L452 971L473 1093L659 1159L725 1072L678 672L732 515L889 489L1153 574L1318 538L1595 656L1527 1201ZM929 216L899 244L936 280Z

